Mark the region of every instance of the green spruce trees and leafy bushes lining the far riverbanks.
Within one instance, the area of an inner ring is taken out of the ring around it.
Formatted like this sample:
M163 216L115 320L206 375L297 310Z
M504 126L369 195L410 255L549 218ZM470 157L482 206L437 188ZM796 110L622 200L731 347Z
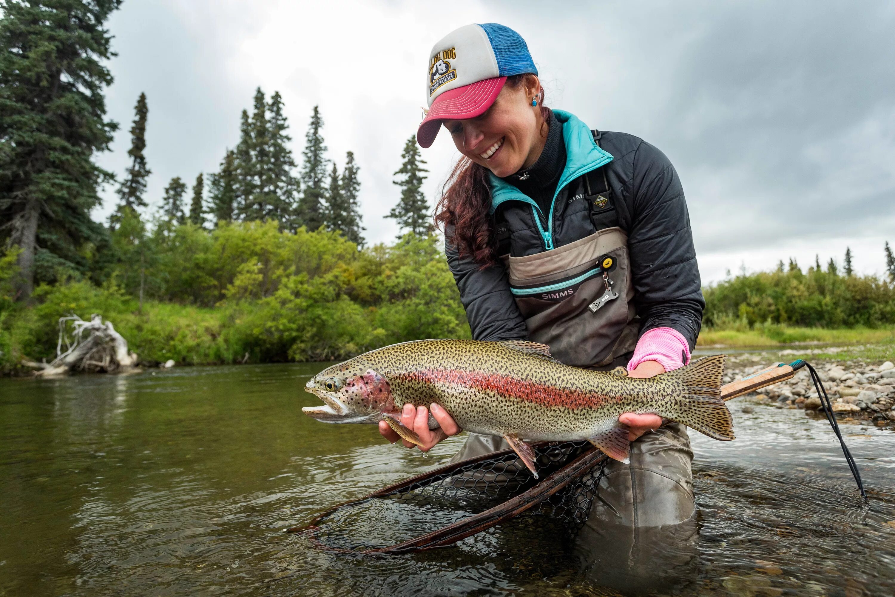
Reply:
M120 4L0 0L0 371L51 360L57 321L72 313L113 321L147 365L332 360L470 337L412 134L394 148L388 217L402 235L390 244L365 241L362 165L351 151L341 167L328 156L323 110L295 138L277 91L256 90L216 172L183 173L161 196L147 192L145 94L127 168L99 167L119 127L105 90L106 23ZM106 185L117 202L100 222ZM891 326L895 257L884 251L884 278L855 274L850 251L841 266L729 277L704 289L704 325Z

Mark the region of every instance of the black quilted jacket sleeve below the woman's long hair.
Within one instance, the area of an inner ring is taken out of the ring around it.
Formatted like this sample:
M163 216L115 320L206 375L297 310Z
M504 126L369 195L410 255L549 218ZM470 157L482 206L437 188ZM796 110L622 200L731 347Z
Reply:
M526 339L528 328L513 294L509 289L507 271L502 261L479 269L479 264L468 257L461 258L447 239L454 233L453 226L445 230L447 266L454 274L466 319L473 330L474 340Z

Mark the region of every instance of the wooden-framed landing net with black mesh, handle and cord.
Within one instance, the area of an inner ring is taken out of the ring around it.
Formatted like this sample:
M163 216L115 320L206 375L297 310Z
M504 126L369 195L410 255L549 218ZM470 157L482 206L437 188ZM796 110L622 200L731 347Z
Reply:
M789 380L803 367L810 373L827 421L840 441L848 468L866 502L857 463L832 414L830 397L809 363L798 359L757 371L722 386L720 397L727 401ZM303 533L320 550L357 555L410 553L446 547L473 534L487 532L512 518L537 519L531 515L547 516L552 523L575 533L591 511L609 456L587 441L538 441L530 447L541 473L540 480L529 473L514 450L501 450L441 466L363 498L331 507L308 525L294 526L286 532ZM422 521L428 521L434 528L428 533L395 542L396 527L404 528L408 523L397 520L394 525L382 525L383 516L400 518L403 508L407 507L418 514L410 528L420 528ZM381 541L373 536L375 533L361 529L362 519L371 516L377 521L371 531L386 531Z

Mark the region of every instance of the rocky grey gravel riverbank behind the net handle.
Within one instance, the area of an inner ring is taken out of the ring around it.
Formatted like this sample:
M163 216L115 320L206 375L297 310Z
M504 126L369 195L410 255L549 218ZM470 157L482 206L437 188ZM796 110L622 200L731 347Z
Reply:
M770 361L754 354L733 355L724 371L724 383L761 371ZM895 425L895 364L891 361L812 364L823 380L832 403L832 412L841 421L873 421L880 427ZM823 414L821 400L806 368L797 371L791 380L764 388L760 393L749 394L746 399L757 404Z

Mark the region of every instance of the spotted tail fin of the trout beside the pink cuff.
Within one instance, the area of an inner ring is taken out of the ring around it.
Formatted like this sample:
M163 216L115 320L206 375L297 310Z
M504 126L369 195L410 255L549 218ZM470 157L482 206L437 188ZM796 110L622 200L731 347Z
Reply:
M721 400L721 375L724 373L726 360L727 355L715 354L665 373L684 386L679 398L678 413L669 418L712 439L734 439L733 416Z

